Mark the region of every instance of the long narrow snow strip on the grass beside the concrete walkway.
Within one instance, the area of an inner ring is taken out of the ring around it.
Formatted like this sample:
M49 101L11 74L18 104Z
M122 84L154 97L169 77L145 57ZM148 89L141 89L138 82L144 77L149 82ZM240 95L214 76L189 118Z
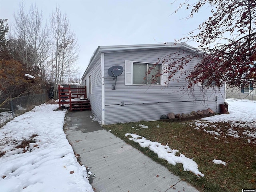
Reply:
M159 158L167 160L170 164L176 165L177 163L182 163L184 171L191 171L197 176L204 176L204 174L198 170L196 162L187 158L178 150L172 150L168 145L164 146L158 142L152 142L136 134L126 133L125 136L131 136L131 138L129 138L130 140L139 143L142 147L148 147L150 150L158 154Z

